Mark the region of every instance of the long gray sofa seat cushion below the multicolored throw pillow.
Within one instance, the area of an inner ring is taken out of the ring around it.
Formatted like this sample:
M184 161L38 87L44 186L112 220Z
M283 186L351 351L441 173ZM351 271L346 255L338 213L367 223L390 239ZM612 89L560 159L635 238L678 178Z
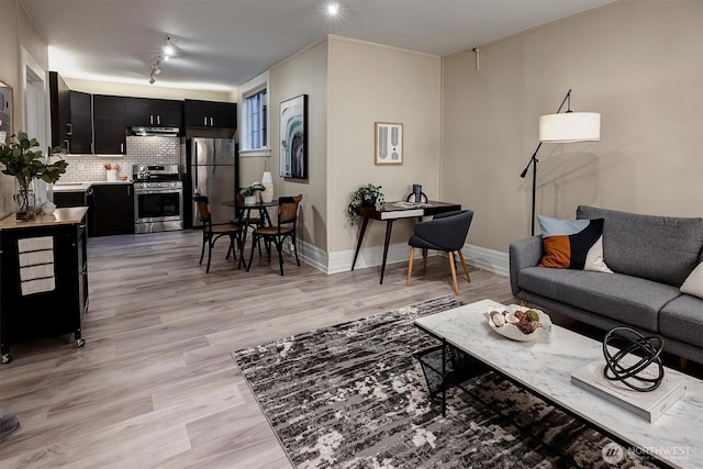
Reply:
M528 267L521 289L623 324L658 332L658 312L681 294L678 288L622 273Z

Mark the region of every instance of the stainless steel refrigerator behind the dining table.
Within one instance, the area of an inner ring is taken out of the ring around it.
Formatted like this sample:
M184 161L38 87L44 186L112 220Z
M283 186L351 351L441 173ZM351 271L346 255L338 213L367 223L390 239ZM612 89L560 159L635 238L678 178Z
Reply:
M210 200L212 223L227 223L234 219L234 206L225 204L236 200L238 164L236 142L231 138L191 138L187 144L186 174L192 227L201 226L193 193Z

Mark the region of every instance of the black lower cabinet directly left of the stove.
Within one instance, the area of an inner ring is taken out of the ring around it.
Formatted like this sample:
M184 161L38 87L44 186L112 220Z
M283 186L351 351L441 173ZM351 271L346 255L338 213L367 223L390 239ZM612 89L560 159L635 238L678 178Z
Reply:
M134 233L134 188L131 183L93 185L90 236Z

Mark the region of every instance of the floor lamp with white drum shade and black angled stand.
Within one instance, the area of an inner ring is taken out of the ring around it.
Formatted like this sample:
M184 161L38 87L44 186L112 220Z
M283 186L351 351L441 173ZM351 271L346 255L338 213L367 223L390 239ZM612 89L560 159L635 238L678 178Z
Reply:
M566 112L561 112L563 104L567 104ZM543 143L574 143L574 142L598 142L601 139L601 114L598 112L573 112L571 111L571 90L567 91L559 109L555 114L547 114L539 118L539 145L532 154L529 163L521 172L524 178L532 166L532 217L531 235L535 235L535 197L537 190L537 153Z

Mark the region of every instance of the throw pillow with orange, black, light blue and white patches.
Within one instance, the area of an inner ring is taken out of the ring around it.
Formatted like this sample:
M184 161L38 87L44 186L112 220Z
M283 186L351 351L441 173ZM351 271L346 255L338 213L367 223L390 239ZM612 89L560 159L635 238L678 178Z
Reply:
M539 265L613 273L603 261L603 219L559 220L537 215L545 255Z

